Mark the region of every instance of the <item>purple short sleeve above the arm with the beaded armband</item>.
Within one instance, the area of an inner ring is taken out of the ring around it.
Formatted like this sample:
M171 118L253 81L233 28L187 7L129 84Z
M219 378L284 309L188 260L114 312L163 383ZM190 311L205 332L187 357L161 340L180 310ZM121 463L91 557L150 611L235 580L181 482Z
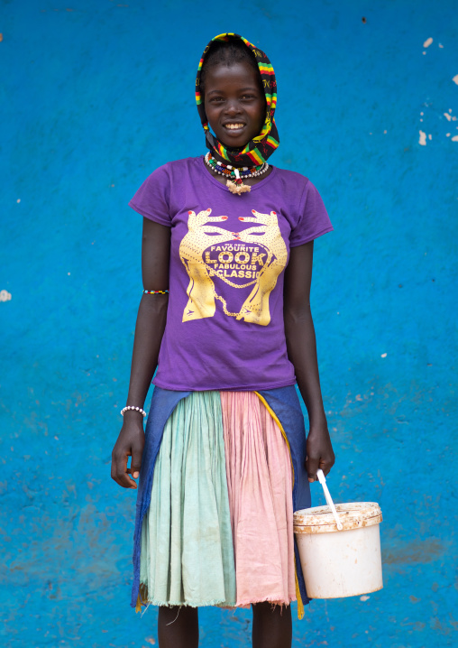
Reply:
M171 227L169 210L170 179L167 164L160 166L143 182L136 191L129 207L138 211L145 218L150 218L160 225Z

